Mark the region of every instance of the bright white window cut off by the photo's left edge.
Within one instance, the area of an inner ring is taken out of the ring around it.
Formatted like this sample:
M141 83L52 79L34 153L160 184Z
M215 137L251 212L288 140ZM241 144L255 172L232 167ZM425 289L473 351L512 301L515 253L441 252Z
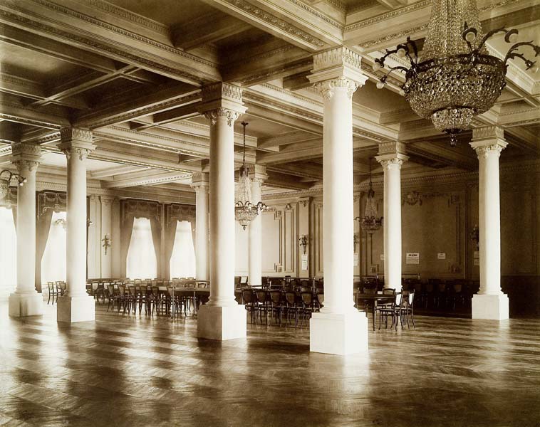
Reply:
M15 290L17 283L17 236L11 209L0 207L0 297Z

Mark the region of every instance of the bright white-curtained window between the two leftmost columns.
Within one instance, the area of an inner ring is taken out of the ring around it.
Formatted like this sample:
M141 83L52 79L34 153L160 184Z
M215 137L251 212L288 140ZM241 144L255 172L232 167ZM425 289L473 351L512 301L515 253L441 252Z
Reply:
M41 258L41 283L66 281L66 212L54 212Z

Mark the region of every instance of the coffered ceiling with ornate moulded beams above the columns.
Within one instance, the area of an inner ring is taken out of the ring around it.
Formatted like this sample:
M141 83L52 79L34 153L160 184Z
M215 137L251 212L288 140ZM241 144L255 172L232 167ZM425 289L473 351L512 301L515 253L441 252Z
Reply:
M539 3L479 0L482 26L512 25L540 43ZM470 132L451 148L396 86L375 88L373 59L407 35L422 46L429 17L427 0L4 0L0 164L22 140L42 145L41 172L65 174L58 130L88 127L98 146L88 176L98 185L189 191L192 172L208 167L200 88L223 80L244 88L246 160L266 164L266 191L309 189L322 180L323 107L306 76L313 53L344 45L363 56L370 79L353 97L356 181L378 142L393 139L407 144L405 172L477 169ZM504 56L505 45L494 38L489 49ZM537 159L540 73L512 63L507 80L474 125L504 127L502 161ZM239 166L242 125L234 129Z

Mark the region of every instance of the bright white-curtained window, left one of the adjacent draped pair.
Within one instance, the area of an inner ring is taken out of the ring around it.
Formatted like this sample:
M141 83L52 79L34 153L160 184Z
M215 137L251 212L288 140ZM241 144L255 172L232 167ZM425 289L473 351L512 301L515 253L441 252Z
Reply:
M157 277L157 260L152 240L152 228L148 218L135 218L133 221L126 274L130 279Z

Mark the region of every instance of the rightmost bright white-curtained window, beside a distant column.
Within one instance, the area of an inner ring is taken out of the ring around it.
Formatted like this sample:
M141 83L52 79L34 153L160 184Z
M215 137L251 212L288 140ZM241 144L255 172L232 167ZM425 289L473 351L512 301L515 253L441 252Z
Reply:
M191 223L188 221L178 221L176 224L170 271L172 278L195 277L195 250L193 247Z

